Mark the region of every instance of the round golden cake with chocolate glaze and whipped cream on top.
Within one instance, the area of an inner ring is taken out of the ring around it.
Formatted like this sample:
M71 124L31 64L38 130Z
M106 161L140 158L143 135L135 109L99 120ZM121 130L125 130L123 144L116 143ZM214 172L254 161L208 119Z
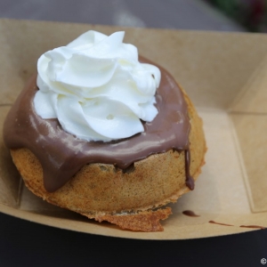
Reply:
M44 53L4 122L28 189L132 231L162 231L167 203L193 190L202 121L166 69L124 33L89 31Z

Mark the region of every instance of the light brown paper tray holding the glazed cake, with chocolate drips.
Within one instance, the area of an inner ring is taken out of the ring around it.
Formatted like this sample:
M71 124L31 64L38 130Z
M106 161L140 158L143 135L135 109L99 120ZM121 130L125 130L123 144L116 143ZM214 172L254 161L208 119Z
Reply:
M37 58L89 29L125 30L125 42L168 69L204 120L206 166L174 205L165 231L122 231L30 193L4 148L4 117ZM267 36L0 20L0 212L46 225L130 239L196 239L267 227ZM191 210L198 217L182 214Z

